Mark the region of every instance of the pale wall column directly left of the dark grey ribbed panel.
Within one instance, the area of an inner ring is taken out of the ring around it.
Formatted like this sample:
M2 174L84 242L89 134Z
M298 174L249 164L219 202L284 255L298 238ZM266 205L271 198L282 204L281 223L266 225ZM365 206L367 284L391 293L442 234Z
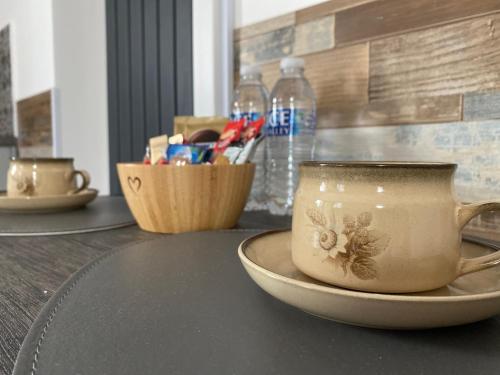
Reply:
M53 0L58 156L109 194L105 0Z

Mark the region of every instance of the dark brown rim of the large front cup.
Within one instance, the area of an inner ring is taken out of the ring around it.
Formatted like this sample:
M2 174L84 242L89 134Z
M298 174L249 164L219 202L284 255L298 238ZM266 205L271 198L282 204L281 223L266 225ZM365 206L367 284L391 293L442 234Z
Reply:
M304 161L301 167L455 169L457 164L414 161Z

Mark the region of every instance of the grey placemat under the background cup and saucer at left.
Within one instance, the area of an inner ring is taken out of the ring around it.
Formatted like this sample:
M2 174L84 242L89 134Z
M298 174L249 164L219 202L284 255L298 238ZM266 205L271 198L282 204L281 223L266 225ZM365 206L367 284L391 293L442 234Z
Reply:
M0 236L39 236L96 232L132 225L123 197L98 197L78 210L47 214L0 213Z

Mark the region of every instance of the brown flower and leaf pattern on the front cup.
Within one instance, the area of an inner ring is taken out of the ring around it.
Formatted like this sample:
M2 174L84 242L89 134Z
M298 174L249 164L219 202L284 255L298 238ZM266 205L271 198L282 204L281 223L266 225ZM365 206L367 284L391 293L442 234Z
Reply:
M373 221L371 212L362 212L356 218L352 215L344 215L342 234L346 242L343 249L337 246L338 236L332 228L333 223L330 226L327 225L326 216L320 210L308 209L306 215L316 228L319 245L323 250L328 251L325 261L341 267L344 275L350 271L361 280L377 278L377 263L372 258L387 248L390 237L370 227Z

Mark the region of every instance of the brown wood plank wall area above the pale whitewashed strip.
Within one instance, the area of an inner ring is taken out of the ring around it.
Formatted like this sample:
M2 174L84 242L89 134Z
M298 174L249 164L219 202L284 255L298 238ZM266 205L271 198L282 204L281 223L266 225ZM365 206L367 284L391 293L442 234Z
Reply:
M499 0L330 0L234 41L236 80L258 63L269 89L303 57L322 128L500 118Z

